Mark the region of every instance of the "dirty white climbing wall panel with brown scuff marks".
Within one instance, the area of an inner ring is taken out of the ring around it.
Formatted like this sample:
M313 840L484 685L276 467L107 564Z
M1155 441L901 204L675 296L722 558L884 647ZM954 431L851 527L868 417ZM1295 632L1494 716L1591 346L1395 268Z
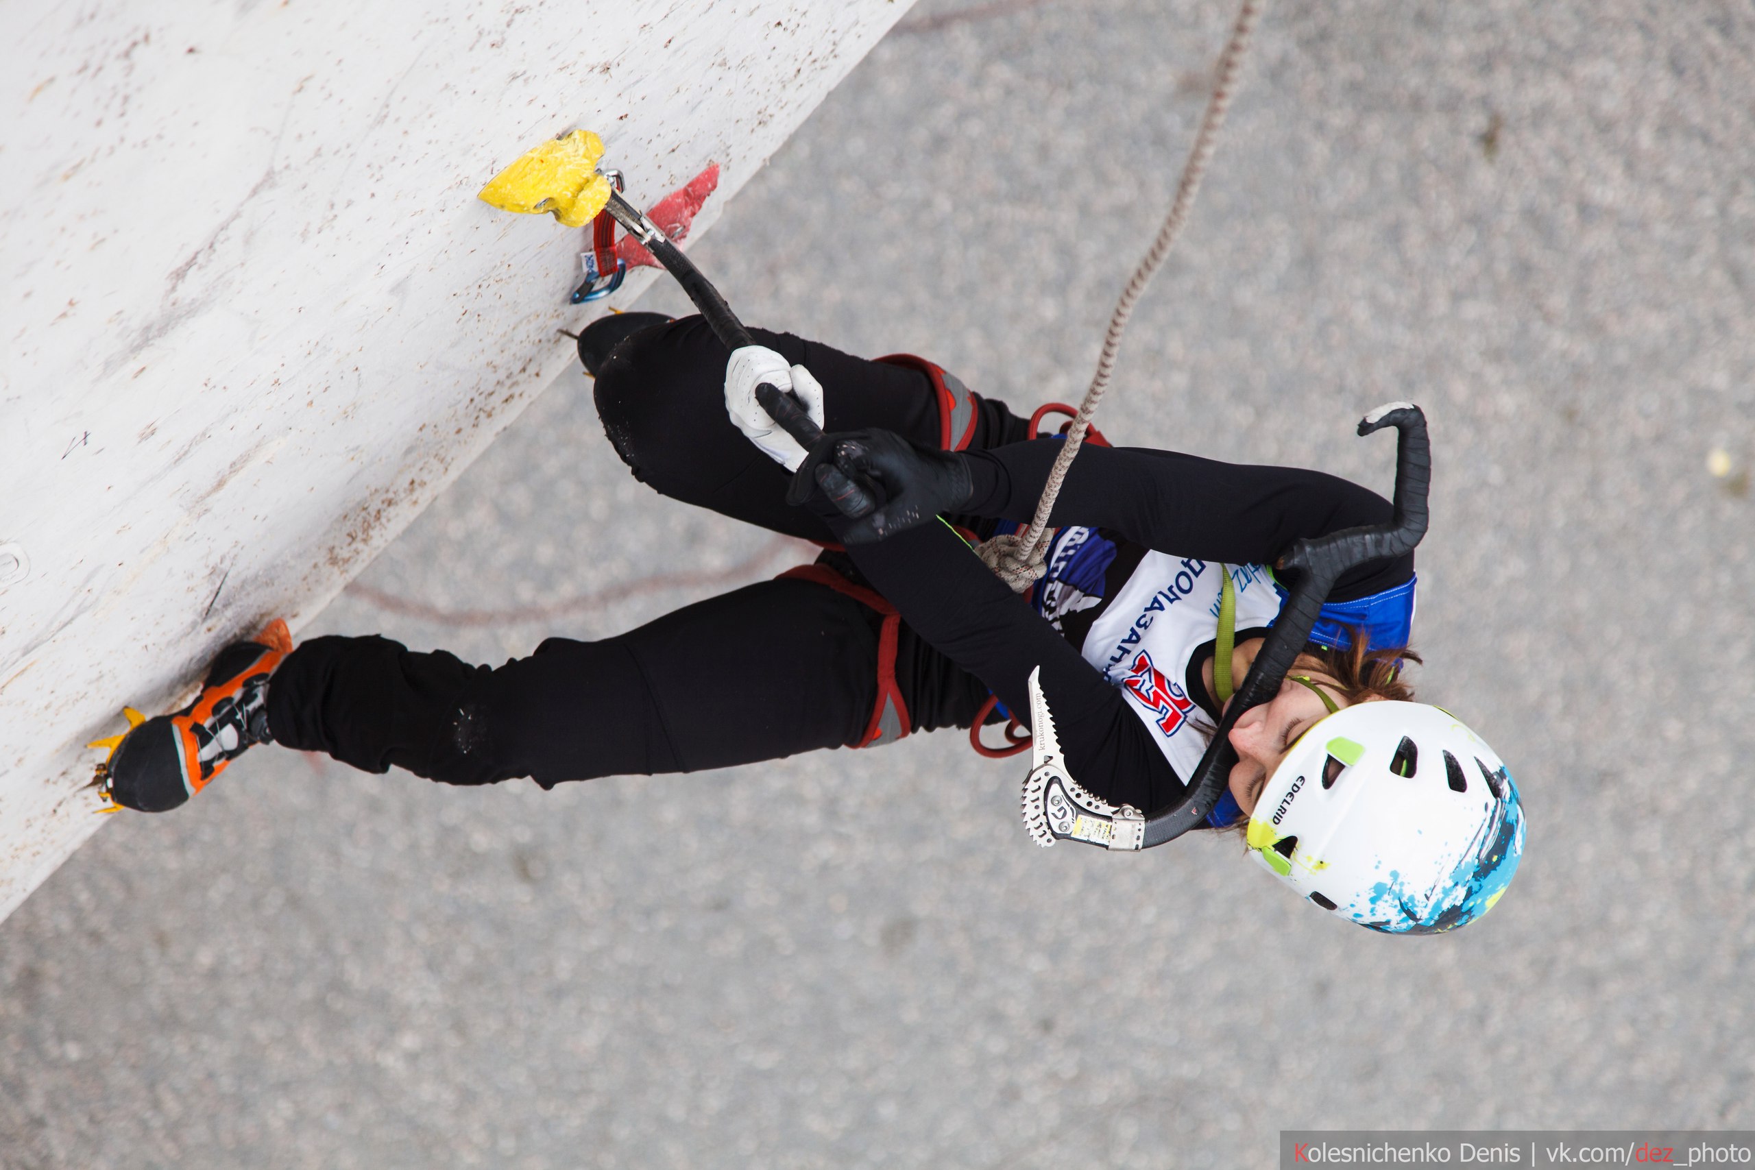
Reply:
M123 703L297 630L569 361L583 233L481 184L593 128L642 205L720 163L695 239L909 4L5 7L0 917Z

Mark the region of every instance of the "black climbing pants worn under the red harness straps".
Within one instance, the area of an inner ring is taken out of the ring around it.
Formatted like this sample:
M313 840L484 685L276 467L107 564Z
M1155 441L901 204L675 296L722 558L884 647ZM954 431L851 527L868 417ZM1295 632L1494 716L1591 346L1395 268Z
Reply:
M827 430L883 426L927 446L944 433L918 368L755 332L825 389ZM786 505L786 472L725 414L727 349L698 317L628 337L597 377L604 432L656 491L797 537L832 540ZM969 447L1018 442L1025 423L976 400ZM878 702L883 616L825 584L765 581L598 642L549 639L530 658L476 667L383 637L293 651L269 691L274 738L363 768L449 784L697 772L856 744ZM895 684L914 730L969 726L986 688L906 626Z

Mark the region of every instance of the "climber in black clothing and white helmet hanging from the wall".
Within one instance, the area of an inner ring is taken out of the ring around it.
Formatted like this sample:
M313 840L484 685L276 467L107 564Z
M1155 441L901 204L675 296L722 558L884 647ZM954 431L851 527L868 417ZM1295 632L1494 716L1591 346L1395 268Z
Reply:
M1279 612L1265 567L1300 537L1390 517L1381 496L1320 472L1088 444L1053 512L1048 574L1018 596L955 528L1027 523L1057 437L1032 439L1006 403L920 358L756 340L728 353L700 317L620 314L590 325L579 353L639 481L828 546L814 565L497 668L377 635L293 649L276 621L218 656L193 707L121 737L100 770L109 795L172 809L270 742L448 784L700 772L1028 712L1041 668L1069 772L1150 810L1183 793ZM788 503L806 453L756 405L763 381L839 435L837 458L883 488L883 509L849 521L820 495ZM1207 817L1244 826L1300 896L1392 933L1472 921L1523 847L1499 756L1399 677L1418 661L1413 612L1411 554L1346 572L1278 696L1230 731L1239 761Z

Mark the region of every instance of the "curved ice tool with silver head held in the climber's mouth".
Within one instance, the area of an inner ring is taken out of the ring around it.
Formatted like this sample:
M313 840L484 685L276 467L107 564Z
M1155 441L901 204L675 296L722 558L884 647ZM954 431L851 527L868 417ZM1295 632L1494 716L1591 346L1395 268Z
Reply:
M1048 703L1042 702L1035 675L1030 675L1032 728L1035 728L1035 768L1025 781L1023 819L1030 835L1042 844L1057 838L1086 840L1109 849L1151 849L1176 840L1202 824L1225 795L1237 751L1230 746L1230 730L1243 712L1272 700L1286 679L1292 663L1309 640L1316 617L1334 582L1348 568L1365 561L1402 556L1409 553L1427 530L1427 489L1432 484L1432 449L1427 439L1425 414L1408 402L1378 407L1358 423L1358 433L1393 426L1399 432L1395 446L1395 512L1388 524L1346 528L1343 531L1299 540L1279 558L1278 568L1295 572L1297 581L1286 603L1274 619L1255 665L1237 688L1213 740L1183 798L1172 805L1141 817L1127 805L1116 809L1086 793L1065 775L1060 746L1055 738ZM1039 775L1041 774L1041 775ZM1057 803L1057 796L1058 802ZM1034 798L1034 802L1032 802Z

